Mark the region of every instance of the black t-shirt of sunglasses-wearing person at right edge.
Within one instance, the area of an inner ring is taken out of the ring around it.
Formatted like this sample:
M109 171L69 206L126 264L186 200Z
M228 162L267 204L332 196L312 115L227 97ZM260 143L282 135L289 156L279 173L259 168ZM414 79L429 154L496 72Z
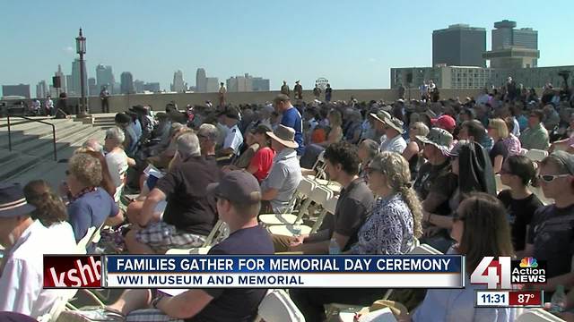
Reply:
M574 204L538 208L528 230L528 243L534 244L534 257L546 260L546 277L570 273L574 255Z

